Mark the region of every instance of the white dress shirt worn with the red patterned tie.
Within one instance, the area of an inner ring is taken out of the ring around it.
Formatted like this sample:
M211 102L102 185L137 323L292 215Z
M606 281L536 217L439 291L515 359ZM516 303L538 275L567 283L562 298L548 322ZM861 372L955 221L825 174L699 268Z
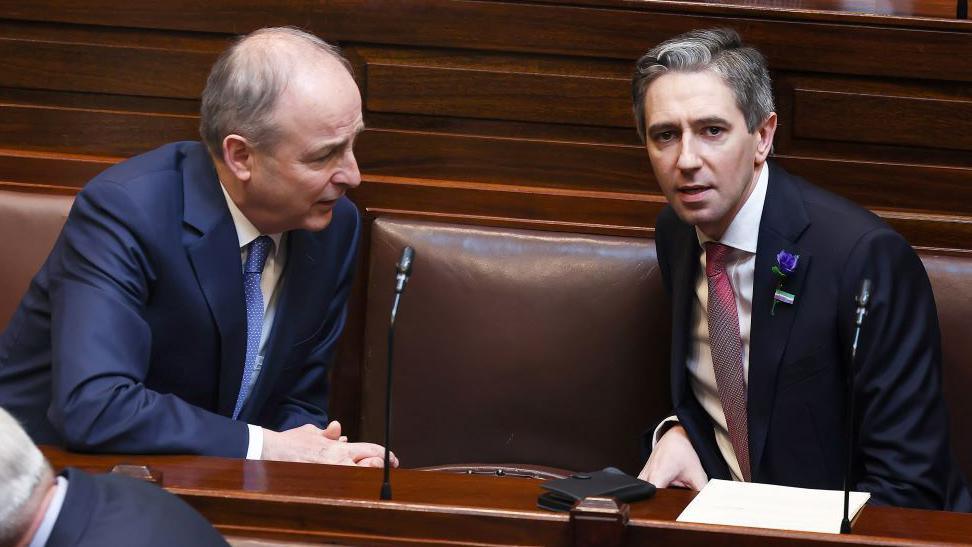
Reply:
M763 204L766 201L766 188L769 186L769 164L763 163L756 177L756 186L746 199L736 217L732 219L726 232L719 239L719 243L733 248L730 259L726 263L726 274L732 284L732 292L736 297L736 312L739 315L739 337L742 339L743 374L749 383L749 336L753 310L753 279L756 270L756 242L759 239L759 221L763 216ZM705 278L705 252L703 245L711 238L698 228L695 229L699 240L699 271L695 278L695 299L692 303L692 331L689 333L689 355L686 367L689 373L689 385L695 398L712 420L715 430L716 444L722 453L733 480L741 481L742 472L736 453L729 439L726 427L726 415L722 410L719 390L716 386L715 368L712 366L712 348L709 346L709 323L706 306L709 301L709 285ZM673 416L662 422L655 430L654 442L657 443L660 434L669 425L677 421Z

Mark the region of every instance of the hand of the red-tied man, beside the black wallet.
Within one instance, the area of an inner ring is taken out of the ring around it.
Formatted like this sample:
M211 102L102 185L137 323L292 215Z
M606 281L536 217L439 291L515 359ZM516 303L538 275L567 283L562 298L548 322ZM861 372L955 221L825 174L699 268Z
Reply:
M680 425L672 426L658 439L638 478L658 488L677 486L692 490L701 490L709 482L685 428Z

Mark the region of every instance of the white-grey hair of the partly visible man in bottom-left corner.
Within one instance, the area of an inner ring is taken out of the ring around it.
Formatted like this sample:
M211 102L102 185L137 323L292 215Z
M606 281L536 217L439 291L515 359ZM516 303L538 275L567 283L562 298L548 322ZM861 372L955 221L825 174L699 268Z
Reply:
M0 545L13 544L33 522L31 501L51 467L17 420L0 408Z

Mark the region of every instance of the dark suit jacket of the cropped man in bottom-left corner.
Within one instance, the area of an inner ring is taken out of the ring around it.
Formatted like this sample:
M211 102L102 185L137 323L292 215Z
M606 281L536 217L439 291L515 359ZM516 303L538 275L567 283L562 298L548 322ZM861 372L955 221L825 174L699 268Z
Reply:
M186 502L160 486L68 468L67 495L47 547L207 547L226 540Z

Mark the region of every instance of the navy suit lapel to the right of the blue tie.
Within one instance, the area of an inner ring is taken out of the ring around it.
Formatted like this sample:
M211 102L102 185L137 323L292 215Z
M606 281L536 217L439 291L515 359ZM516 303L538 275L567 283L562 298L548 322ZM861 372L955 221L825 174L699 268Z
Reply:
M256 418L254 409L263 408L291 348L299 342L295 340L295 336L304 332L299 327L307 315L302 310L306 309L308 297L314 291L315 285L327 286L325 280L321 279L325 272L321 270L323 259L320 245L307 231L287 233L287 265L280 280L283 292L278 297L273 326L267 338L264 366L257 377L253 392L240 412L243 420ZM313 311L318 315L319 310Z

